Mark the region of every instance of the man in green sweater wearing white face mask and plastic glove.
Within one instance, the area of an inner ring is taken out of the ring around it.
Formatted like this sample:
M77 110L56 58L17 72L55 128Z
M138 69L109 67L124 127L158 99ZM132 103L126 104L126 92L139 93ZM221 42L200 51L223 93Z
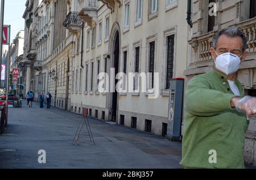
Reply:
M256 98L244 97L236 75L246 37L236 27L218 32L211 48L214 69L192 78L185 92L184 168L245 168L243 148Z

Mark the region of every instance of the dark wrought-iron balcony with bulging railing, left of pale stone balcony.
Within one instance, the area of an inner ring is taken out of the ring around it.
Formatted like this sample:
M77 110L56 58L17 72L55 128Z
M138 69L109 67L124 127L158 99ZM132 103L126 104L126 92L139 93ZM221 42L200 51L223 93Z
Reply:
M71 32L77 32L81 29L82 20L77 16L78 12L69 12L67 18L63 22L63 26Z

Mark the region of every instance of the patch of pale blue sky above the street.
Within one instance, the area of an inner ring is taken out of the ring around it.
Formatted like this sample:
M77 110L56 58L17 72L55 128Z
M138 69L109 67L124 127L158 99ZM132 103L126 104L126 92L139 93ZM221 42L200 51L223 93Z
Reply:
M11 25L11 41L19 30L24 30L25 20L22 18L26 0L5 0L5 25Z

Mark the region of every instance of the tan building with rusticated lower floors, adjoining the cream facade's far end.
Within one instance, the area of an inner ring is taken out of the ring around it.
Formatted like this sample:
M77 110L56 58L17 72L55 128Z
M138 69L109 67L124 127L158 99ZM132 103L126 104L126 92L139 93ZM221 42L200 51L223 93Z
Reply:
M63 26L70 7L69 1L55 1L52 15L52 52L50 61L46 62L48 72L48 91L52 94L52 105L70 110L71 82L70 66L72 66L73 36ZM71 62L71 63L70 63Z

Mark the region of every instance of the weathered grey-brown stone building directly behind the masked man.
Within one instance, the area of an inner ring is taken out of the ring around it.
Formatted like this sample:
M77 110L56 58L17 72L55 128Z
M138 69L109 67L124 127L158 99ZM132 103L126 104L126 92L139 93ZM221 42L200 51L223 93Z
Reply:
M187 80L197 74L212 70L214 61L210 54L213 37L217 31L236 26L247 37L246 61L238 71L238 80L245 88L247 95L255 96L256 88L256 2L254 0L192 0L191 22L189 29L188 67L184 71ZM215 4L214 4L215 3ZM214 11L216 6L216 11ZM215 15L211 15L216 12ZM246 134L245 159L247 164L256 165L256 120L251 119Z

